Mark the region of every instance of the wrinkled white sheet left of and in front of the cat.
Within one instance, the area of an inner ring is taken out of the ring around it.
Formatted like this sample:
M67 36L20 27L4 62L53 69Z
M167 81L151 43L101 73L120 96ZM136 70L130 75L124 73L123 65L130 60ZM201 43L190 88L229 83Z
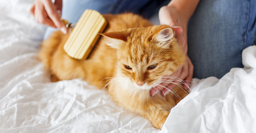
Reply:
M33 1L0 1L0 132L158 132L81 79L52 83L38 60Z

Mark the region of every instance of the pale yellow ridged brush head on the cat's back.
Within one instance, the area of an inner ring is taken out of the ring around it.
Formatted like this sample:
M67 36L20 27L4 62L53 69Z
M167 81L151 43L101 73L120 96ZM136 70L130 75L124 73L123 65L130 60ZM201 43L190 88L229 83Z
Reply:
M85 10L64 45L65 52L74 59L85 60L90 55L107 21L99 12Z

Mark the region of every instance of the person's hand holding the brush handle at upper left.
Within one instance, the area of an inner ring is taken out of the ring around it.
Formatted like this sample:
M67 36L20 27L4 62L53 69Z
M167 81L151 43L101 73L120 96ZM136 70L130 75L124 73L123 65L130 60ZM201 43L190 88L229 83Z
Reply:
M65 25L60 20L62 11L62 0L35 0L30 13L35 17L36 22L46 26L59 28L63 34L67 34Z

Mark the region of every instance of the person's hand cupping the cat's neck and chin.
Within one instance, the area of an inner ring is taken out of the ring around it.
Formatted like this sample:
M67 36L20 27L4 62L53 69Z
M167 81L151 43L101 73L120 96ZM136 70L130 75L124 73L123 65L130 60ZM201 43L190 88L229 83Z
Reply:
M173 6L163 6L159 10L159 20L161 24L167 24L170 27L174 27L175 38L177 38L178 44L181 45L183 53L186 55L186 59L185 65L181 66L180 69L175 71L171 76L164 76L161 79L161 84L150 90L151 96L155 96L158 92L161 92L161 94L165 96L180 82L183 83L183 87L188 89L190 81L193 78L194 70L194 66L187 56L187 24L189 18L186 18L186 15L183 15L182 11Z

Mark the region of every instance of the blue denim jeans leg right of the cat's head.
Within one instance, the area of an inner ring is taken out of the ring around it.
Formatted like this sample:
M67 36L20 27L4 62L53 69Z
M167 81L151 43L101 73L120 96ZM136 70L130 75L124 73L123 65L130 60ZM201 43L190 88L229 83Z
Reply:
M188 24L194 77L221 78L242 68L242 51L254 44L256 1L201 0Z

